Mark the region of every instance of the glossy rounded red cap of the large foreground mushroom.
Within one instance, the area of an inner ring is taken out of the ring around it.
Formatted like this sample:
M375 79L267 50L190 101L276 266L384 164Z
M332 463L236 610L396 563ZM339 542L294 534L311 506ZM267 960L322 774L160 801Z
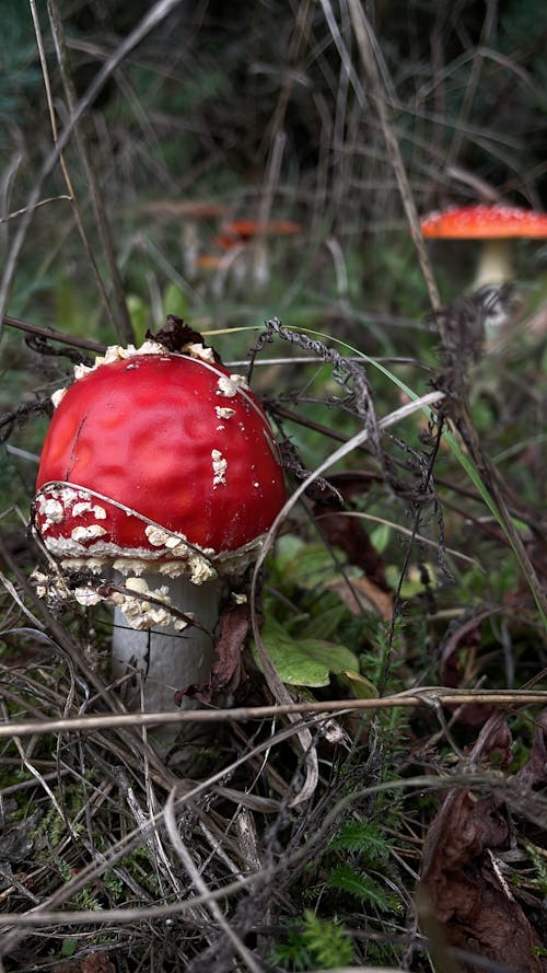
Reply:
M51 554L126 574L149 561L196 574L185 541L206 564L220 558L241 571L238 549L268 530L286 498L277 443L241 377L164 350L132 349L67 390L36 487L35 525Z

